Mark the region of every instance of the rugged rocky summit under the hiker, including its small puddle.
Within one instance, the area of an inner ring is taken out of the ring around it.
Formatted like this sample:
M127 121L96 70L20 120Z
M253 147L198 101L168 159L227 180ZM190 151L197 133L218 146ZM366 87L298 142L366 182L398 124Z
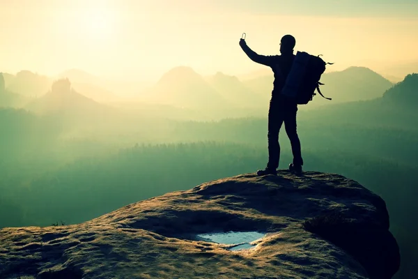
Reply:
M385 202L320 172L242 174L78 225L0 230L6 279L385 279L399 262Z

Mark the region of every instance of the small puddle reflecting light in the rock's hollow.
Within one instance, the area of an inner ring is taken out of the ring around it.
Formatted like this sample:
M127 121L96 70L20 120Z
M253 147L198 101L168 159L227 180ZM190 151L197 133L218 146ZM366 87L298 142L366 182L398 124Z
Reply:
M219 244L233 245L227 248L231 251L245 250L254 248L250 243L265 236L261 232L212 232L208 234L197 234L197 239L201 241L215 242Z

